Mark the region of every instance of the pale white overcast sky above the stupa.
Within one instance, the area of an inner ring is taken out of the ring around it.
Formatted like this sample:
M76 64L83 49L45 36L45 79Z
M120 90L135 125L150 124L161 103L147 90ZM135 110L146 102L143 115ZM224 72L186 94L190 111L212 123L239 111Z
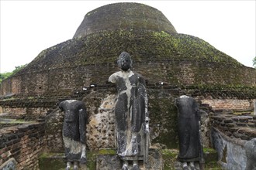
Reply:
M256 56L256 1L10 1L1 0L0 73L31 62L72 39L87 12L114 2L160 10L178 33L197 36L245 66Z

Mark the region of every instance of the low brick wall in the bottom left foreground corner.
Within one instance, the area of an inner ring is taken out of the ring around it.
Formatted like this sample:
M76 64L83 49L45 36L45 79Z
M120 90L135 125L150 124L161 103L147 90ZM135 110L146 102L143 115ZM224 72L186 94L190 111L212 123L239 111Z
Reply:
M44 145L44 123L2 128L0 141L0 165L15 158L18 170L36 169Z

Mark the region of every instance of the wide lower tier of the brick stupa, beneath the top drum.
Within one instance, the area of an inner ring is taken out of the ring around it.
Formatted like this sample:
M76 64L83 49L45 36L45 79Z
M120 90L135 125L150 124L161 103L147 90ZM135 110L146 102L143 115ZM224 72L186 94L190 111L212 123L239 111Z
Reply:
M199 48L200 46L200 48ZM100 47L100 48L99 48ZM91 83L104 85L123 50L148 82L255 87L256 70L202 39L150 31L100 32L43 50L0 87L0 97L63 97Z

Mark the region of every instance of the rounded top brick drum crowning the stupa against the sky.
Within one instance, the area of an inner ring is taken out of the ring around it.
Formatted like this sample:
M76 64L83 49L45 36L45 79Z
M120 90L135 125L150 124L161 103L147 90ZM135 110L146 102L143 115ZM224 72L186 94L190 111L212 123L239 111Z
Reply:
M116 3L88 12L73 38L104 30L133 31L141 29L177 33L171 22L156 8L138 3Z

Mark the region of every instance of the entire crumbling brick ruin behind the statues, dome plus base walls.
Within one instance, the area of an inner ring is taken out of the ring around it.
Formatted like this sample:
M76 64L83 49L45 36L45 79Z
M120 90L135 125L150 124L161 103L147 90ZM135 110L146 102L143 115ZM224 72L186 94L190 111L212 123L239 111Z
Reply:
M61 151L63 117L57 104L65 99L83 100L90 117L88 149L112 148L116 89L107 80L118 70L116 59L123 51L131 54L134 70L147 80L151 145L177 147L174 100L182 94L195 97L202 112L209 115L206 119L210 121L204 124L206 145L213 145L209 142L211 128L230 140L256 138L256 118L251 116L256 100L256 70L198 37L179 34L156 8L137 3L105 5L88 12L73 39L44 49L23 70L2 81L0 110L9 117L45 118L44 143L38 152ZM241 122L244 119L237 118L234 112L249 113L250 118ZM253 132L241 130L245 123ZM0 162L15 158L22 169L19 154L6 150L12 148L9 134L0 134L0 141L5 141L0 145Z

